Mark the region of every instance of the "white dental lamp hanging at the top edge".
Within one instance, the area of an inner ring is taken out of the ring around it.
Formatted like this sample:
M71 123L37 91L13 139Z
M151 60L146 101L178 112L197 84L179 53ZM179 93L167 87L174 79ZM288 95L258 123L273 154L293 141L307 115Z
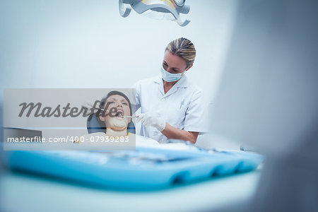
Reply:
M189 13L190 6L184 3L185 0L119 0L119 13L126 18L134 8L137 13L145 13L151 18L176 20L183 27L190 22L179 17L179 13Z

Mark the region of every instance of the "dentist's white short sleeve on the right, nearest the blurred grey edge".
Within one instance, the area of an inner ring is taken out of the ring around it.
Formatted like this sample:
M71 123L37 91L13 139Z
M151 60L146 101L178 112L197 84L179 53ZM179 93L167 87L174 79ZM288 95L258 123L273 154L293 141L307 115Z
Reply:
M184 130L197 132L208 131L207 117L207 105L204 102L203 92L196 90L192 95L192 100L186 112Z

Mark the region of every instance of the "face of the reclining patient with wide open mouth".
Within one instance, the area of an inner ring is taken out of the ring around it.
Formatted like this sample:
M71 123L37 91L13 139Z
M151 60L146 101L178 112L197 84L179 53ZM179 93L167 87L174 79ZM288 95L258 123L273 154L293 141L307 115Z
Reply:
M123 116L130 116L129 102L127 102L127 100L121 95L111 95L109 98L107 98L105 105L108 105L105 110L110 110L113 107L117 109L115 117L113 117L114 114L112 114L112 116L100 116L100 120L105 122L107 128L111 128L116 131L127 129L131 118Z

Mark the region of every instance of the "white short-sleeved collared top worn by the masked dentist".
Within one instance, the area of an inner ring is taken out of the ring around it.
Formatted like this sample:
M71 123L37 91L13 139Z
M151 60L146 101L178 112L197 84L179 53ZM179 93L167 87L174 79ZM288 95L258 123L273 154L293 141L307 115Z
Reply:
M186 75L175 83L165 93L161 75L138 81L136 88L136 110L141 107L141 113L151 112L161 117L177 129L185 131L206 131L206 107L202 90L190 83ZM141 136L167 143L166 136L155 127L141 124Z

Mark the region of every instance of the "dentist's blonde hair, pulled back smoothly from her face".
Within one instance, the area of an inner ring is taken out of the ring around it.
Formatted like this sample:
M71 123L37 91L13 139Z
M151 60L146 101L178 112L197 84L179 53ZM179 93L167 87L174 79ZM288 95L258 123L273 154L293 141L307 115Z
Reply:
M180 37L176 40L172 40L165 50L184 59L187 62L187 68L194 63L196 48L194 48L193 43L187 38Z

